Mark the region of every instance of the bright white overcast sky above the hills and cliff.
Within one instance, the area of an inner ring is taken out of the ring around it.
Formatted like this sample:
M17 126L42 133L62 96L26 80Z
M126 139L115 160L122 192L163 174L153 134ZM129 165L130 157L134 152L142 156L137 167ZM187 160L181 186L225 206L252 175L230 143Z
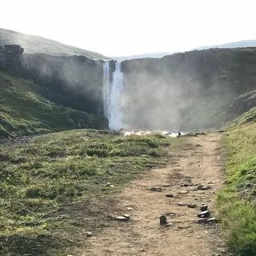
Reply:
M0 27L106 56L256 39L255 0L0 0Z

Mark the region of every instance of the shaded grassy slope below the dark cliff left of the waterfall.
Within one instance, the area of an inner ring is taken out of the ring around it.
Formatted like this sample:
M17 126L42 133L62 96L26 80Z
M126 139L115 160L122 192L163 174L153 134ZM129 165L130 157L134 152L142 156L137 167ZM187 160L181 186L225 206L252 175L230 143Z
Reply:
M66 130L83 122L102 128L101 118L50 103L43 87L0 72L0 137Z

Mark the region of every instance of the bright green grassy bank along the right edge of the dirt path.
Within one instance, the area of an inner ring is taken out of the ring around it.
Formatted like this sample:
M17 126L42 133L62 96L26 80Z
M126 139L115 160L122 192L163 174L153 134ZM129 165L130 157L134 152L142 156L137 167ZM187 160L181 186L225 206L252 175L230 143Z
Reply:
M218 209L230 248L256 255L256 110L230 122L225 136L226 186L218 193Z

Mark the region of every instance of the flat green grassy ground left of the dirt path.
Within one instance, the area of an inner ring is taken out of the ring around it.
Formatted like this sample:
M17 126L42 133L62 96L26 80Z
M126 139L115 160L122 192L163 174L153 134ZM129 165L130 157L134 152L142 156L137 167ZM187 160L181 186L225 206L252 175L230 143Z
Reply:
M104 200L147 166L165 165L181 142L159 134L70 130L0 146L0 254L74 253L84 246L85 230L108 221L114 207L104 208Z

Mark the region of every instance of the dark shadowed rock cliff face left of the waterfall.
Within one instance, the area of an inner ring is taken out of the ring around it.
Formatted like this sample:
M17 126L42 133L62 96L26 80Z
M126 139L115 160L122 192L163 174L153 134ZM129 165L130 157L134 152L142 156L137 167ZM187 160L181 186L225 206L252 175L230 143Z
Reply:
M22 54L20 46L0 47L0 70L32 79L52 102L103 114L102 61L84 56Z

